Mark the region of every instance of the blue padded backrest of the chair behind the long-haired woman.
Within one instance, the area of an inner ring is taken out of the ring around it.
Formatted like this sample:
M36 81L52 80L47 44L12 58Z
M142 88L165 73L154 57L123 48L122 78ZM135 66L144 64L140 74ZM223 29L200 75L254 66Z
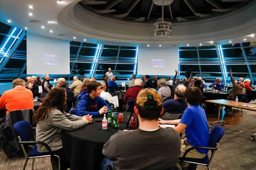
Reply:
M20 136L22 141L30 141L33 139L33 130L29 122L23 120L13 125L17 136Z

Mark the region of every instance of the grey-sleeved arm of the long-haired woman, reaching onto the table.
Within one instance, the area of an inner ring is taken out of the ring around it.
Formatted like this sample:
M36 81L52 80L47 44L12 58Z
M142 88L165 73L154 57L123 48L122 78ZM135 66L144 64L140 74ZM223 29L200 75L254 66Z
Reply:
M89 123L84 119L74 121L69 120L65 114L61 113L61 111L57 109L52 110L50 115L52 118L52 125L55 127L60 127L65 130L77 129Z

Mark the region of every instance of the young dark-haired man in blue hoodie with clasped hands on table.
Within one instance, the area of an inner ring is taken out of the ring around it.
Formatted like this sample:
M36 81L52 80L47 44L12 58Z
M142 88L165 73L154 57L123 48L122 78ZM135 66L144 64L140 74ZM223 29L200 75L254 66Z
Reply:
M83 91L77 96L78 106L76 108L77 116L85 116L87 114L93 117L99 117L108 112L110 106L100 97L101 86L99 82L91 81L87 85L87 91ZM74 113L74 112L72 112Z

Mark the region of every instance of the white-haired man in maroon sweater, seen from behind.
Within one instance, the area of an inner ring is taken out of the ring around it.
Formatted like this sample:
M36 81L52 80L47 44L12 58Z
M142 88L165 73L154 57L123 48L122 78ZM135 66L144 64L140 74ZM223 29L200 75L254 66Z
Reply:
M124 104L126 105L130 100L136 100L138 93L142 90L142 80L135 79L135 86L129 88L124 96Z

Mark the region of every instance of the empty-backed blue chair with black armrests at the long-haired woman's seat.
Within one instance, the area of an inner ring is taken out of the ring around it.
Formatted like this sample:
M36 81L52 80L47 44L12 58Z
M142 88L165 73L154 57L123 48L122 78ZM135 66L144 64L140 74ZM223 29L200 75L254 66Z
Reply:
M15 123L14 125L15 133L17 134L18 142L20 144L20 147L24 153L24 156L26 157L25 164L23 166L23 170L26 168L26 164L29 159L32 159L32 170L34 168L34 159L35 158L44 158L44 157L50 157L50 156L56 156L58 158L58 169L60 170L60 158L58 155L53 155L51 148L44 142L35 141L35 136L32 130L32 127L30 126L29 122L27 121L20 121ZM48 153L40 153L37 150L36 144L42 144L44 145ZM34 145L32 150L28 153L27 147L28 145Z

